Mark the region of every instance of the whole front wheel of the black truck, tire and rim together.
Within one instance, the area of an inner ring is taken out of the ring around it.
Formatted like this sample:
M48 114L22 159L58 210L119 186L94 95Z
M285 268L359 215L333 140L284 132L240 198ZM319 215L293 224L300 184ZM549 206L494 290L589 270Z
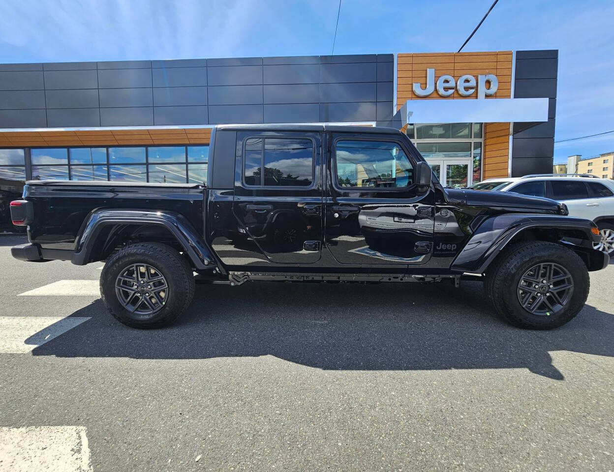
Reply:
M489 266L484 288L496 311L519 328L550 330L586 303L588 270L578 255L554 242L518 242Z

